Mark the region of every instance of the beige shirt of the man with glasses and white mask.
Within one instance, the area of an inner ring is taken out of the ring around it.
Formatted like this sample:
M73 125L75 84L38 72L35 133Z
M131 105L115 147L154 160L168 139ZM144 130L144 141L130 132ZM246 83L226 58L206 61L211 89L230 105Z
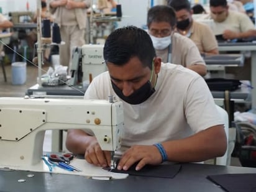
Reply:
M171 47L171 60L168 60L169 46L163 50L155 50L163 63L170 62L185 67L194 64L205 65L198 48L188 37L174 33L171 37Z

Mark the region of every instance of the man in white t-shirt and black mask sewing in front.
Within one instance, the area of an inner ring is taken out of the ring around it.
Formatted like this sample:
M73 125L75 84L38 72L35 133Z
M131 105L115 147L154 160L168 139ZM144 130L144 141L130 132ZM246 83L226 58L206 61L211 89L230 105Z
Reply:
M181 65L162 63L145 30L114 30L103 55L108 71L93 79L85 99L112 94L123 103L117 169L128 170L135 162L136 170L165 161L201 162L226 152L223 122L204 79ZM110 152L102 151L96 137L85 130L68 130L66 147L85 154L93 165L110 164Z

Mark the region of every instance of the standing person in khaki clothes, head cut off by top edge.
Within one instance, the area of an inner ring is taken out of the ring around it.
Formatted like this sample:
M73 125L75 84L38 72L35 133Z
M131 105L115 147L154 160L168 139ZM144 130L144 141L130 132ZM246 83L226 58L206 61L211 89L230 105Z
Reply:
M85 44L86 8L89 4L89 0L50 0L51 12L65 42L60 46L60 64L69 66L69 70L73 48Z

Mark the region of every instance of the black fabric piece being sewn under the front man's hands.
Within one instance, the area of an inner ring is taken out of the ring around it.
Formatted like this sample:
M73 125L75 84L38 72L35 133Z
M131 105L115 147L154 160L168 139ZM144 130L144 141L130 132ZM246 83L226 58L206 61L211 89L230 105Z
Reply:
M180 164L175 165L145 165L139 171L135 170L137 163L134 163L129 170L117 170L117 168L110 170L114 173L126 173L129 175L137 175L137 176L151 176L151 177L158 177L158 178L175 178L178 172L181 170Z

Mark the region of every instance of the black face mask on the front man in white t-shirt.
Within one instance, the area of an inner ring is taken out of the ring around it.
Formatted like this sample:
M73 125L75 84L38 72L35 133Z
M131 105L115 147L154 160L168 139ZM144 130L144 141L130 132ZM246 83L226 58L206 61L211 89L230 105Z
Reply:
M152 88L150 81L147 81L147 83L142 85L142 87L139 89L135 90L134 93L130 94L129 96L124 96L122 90L119 89L112 81L111 84L117 96L129 104L143 103L155 92L155 88Z

